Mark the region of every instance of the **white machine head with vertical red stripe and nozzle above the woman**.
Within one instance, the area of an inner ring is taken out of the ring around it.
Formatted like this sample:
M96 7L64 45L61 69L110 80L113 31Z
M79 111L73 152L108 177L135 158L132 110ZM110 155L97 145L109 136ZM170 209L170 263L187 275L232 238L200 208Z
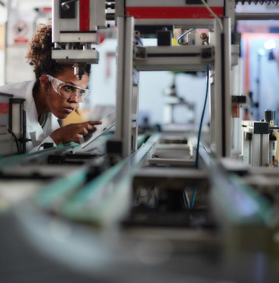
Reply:
M93 44L99 43L98 30L107 27L106 1L52 0L52 8L52 58L73 64L74 74L81 78L86 63L99 61Z

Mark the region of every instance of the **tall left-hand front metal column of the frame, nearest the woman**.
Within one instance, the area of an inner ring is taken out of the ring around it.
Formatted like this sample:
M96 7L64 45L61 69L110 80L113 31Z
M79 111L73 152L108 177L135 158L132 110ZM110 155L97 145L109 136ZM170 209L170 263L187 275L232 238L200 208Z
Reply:
M116 140L122 142L122 157L132 147L134 18L117 17Z

